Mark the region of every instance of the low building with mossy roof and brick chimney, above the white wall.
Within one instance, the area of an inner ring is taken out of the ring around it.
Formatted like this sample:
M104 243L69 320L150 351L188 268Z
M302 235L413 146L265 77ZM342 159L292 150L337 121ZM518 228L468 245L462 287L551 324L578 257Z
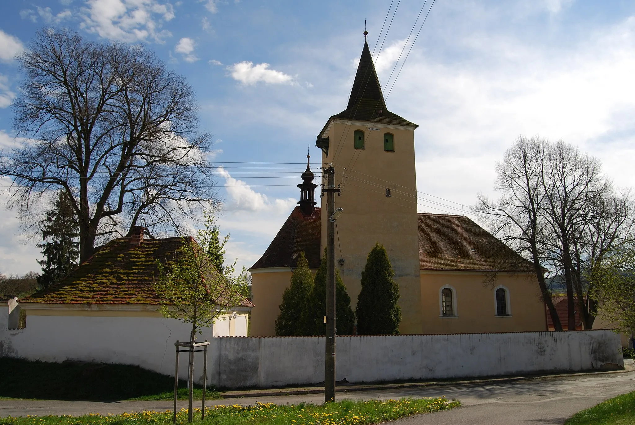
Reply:
M95 253L67 278L20 300L27 324L32 316L48 314L73 316L155 317L161 300L153 288L159 276L157 261L166 264L186 243L185 238L145 239L144 227L98 246ZM246 335L248 314L253 304L241 298L240 305L222 315L233 323L232 334ZM236 313L236 314L234 314ZM221 318L221 321L222 321ZM217 332L218 333L218 332ZM227 332L221 334L229 334Z

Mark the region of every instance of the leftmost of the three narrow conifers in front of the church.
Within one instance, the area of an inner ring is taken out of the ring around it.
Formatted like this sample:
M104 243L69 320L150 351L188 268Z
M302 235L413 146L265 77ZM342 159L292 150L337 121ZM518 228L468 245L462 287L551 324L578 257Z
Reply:
M300 252L297 268L291 275L291 285L284 290L280 315L276 319L276 335L304 335L300 318L307 296L313 289L313 274L304 252Z

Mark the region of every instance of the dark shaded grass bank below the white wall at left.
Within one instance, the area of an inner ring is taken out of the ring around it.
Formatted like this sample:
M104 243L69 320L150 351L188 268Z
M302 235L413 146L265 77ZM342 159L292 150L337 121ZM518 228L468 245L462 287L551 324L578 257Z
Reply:
M179 381L178 398L187 399L187 383ZM41 400L165 400L174 396L174 378L131 365L46 363L0 357L0 398ZM195 386L200 399L203 387ZM206 398L220 398L208 389Z

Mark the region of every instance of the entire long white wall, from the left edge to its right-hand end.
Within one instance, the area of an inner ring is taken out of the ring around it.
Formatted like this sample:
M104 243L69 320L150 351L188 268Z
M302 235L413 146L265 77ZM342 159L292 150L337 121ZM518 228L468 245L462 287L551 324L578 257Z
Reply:
M0 309L0 356L138 365L173 375L174 342L189 327L164 318L28 316L8 330ZM274 387L324 381L324 337L212 337L209 381L220 387ZM337 337L337 380L448 379L623 368L620 336L610 330L514 334ZM195 374L201 380L202 353ZM182 355L179 376L186 377Z

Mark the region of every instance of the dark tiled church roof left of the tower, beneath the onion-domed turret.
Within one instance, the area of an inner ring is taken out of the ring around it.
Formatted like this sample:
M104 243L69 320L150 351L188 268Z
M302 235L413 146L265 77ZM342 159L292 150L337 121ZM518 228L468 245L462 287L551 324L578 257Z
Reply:
M317 269L320 262L320 208L305 216L300 207L293 208L269 248L250 269L267 267L295 267L300 252L304 251L309 267Z

